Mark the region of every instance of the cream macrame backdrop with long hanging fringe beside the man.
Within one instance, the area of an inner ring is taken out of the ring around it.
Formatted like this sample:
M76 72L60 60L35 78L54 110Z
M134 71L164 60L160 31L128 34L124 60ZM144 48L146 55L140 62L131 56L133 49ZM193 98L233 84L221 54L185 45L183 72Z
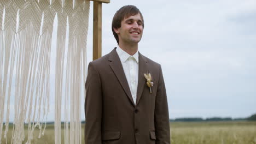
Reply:
M82 143L89 8L86 0L0 0L0 143L7 141L7 135L12 138L6 143L31 143L36 127L39 137L44 135L51 59L56 61L55 93L51 94L55 95L55 143ZM57 45L51 57L55 20ZM65 114L64 141L61 113ZM8 133L9 115L14 115L13 133ZM24 124L28 124L26 140Z

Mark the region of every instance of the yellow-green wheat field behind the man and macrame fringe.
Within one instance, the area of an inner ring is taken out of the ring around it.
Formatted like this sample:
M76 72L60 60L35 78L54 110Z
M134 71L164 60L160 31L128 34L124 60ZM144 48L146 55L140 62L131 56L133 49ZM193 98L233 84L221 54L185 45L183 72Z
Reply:
M256 144L256 122L171 122L170 126L172 144ZM8 143L10 143L12 128L10 125ZM54 124L46 126L45 135L40 139L37 138L38 133L39 130L34 131L32 143L54 143ZM83 135L84 125L82 129L84 143ZM2 143L5 143L3 135Z

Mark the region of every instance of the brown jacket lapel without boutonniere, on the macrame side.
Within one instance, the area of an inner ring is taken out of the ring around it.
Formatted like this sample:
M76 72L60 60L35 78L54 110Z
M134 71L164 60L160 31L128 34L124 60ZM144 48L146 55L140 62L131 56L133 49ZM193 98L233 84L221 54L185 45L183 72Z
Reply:
M115 49L116 49L116 47L115 47ZM133 102L133 99L132 99L132 95L131 95L131 91L130 91L128 82L126 80L123 66L121 64L120 58L115 49L109 53L109 57L108 57L109 65L110 65L111 69L114 71L115 76L117 76L118 81L120 82L121 86L124 88L124 91L125 91L127 97L131 100L131 103L133 105L135 105Z

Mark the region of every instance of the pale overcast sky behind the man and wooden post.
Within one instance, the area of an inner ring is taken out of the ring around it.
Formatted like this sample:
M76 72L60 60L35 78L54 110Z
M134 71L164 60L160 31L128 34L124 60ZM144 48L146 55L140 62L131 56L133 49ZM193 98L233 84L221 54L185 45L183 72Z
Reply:
M256 113L256 1L112 0L102 5L102 55L117 45L112 18L128 4L143 14L139 52L162 66L170 118Z

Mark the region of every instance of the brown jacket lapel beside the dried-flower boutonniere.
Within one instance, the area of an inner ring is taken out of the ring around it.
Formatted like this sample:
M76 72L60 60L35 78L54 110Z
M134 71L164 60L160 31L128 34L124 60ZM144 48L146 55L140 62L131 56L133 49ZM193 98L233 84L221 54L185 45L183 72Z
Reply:
M139 71L138 71L138 88L137 88L137 100L136 105L139 102L139 99L141 99L141 95L143 92L143 89L146 85L146 79L144 77L144 74L148 73L148 62L144 56L139 53Z

